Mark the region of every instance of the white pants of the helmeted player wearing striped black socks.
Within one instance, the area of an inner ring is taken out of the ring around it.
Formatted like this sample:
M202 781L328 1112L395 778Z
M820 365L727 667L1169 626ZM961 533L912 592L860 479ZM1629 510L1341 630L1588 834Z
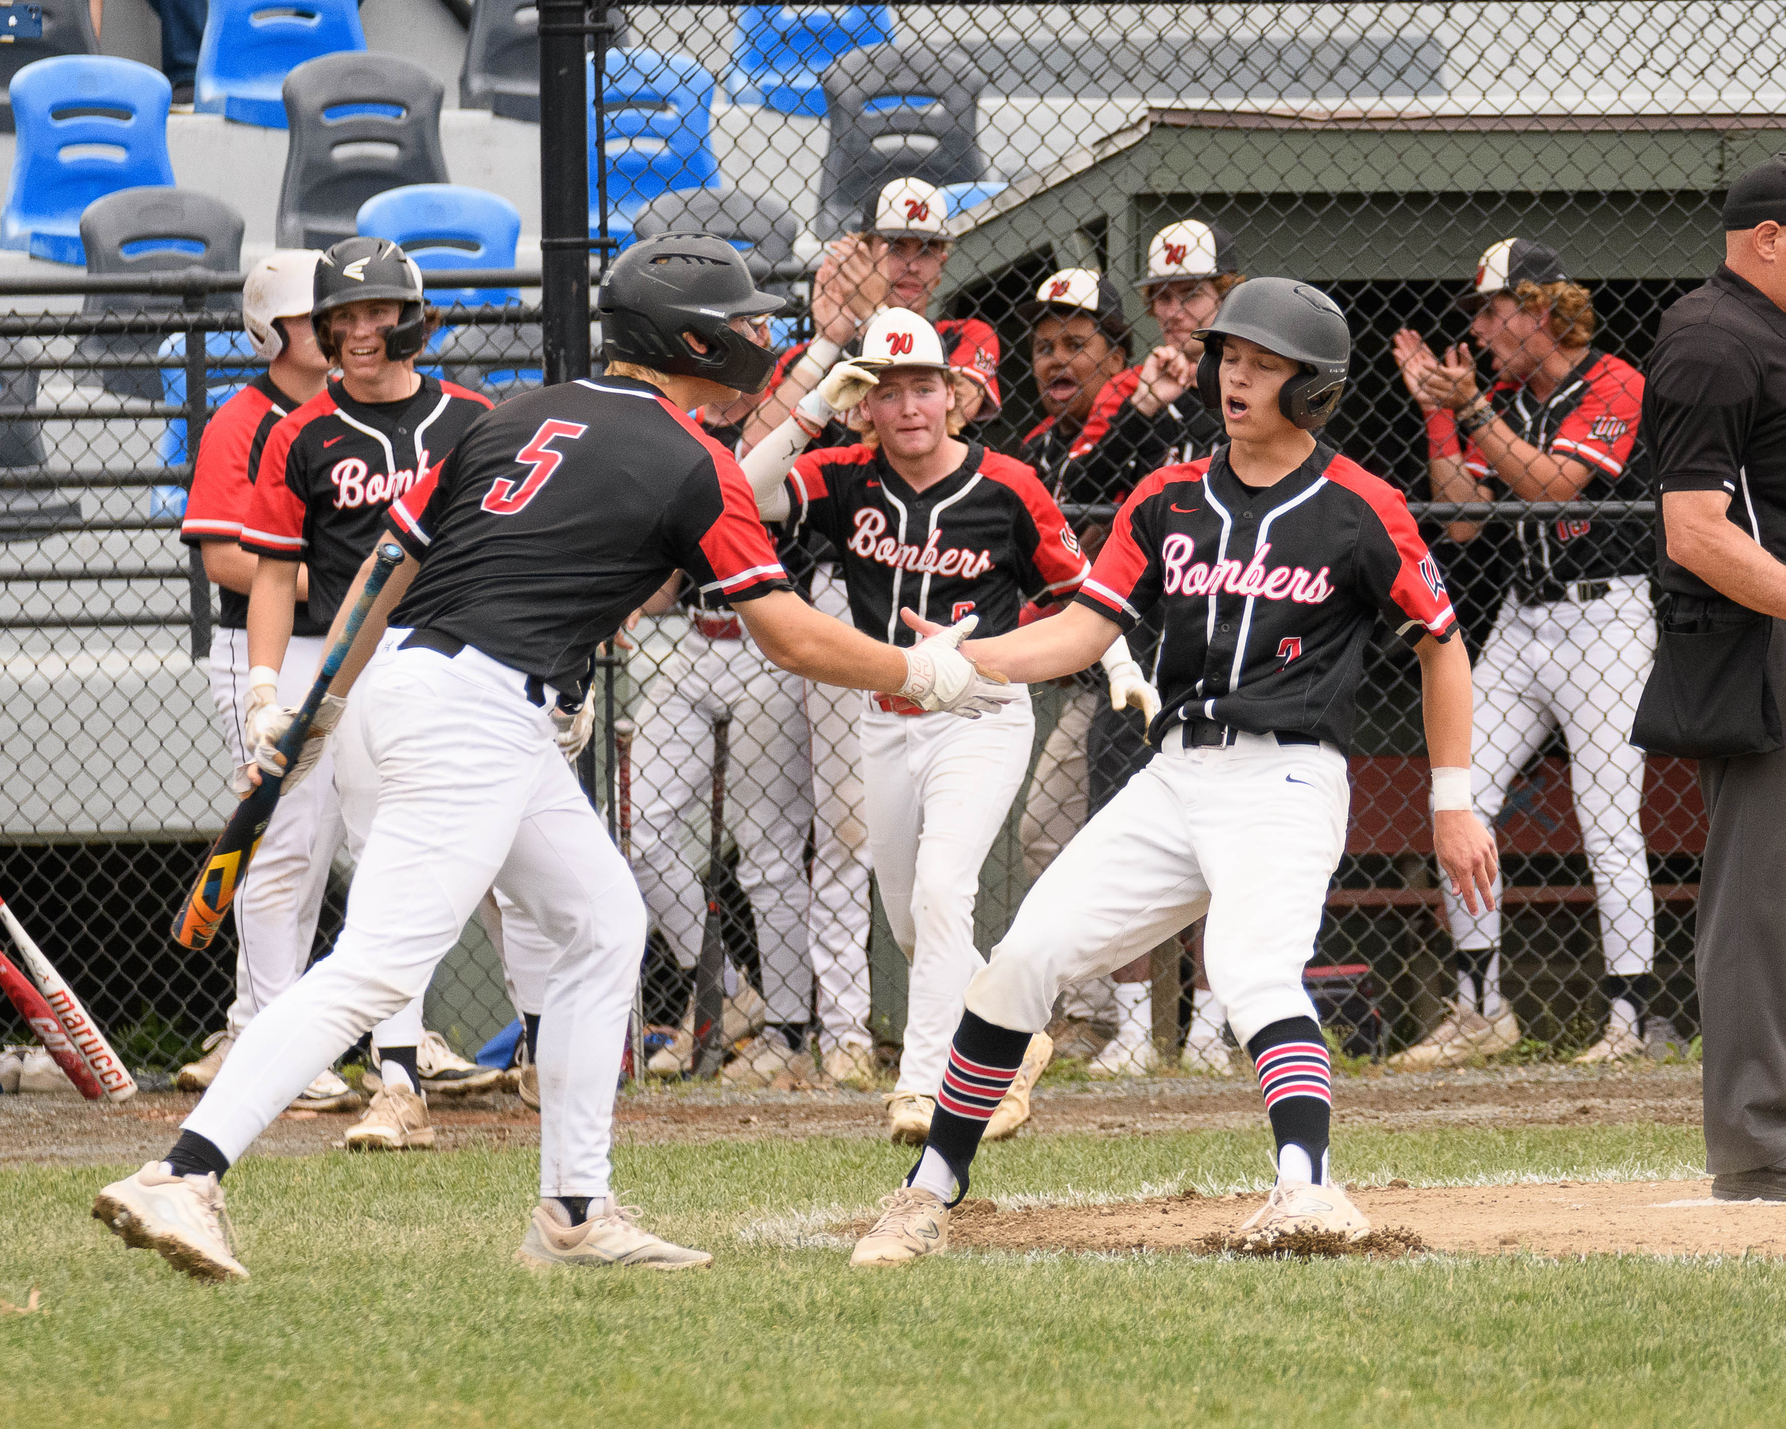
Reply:
M1331 745L1179 732L1048 865L966 991L998 1027L1039 1032L1061 988L1114 972L1206 911L1204 970L1245 1047L1314 1016L1302 966L1345 850L1347 765Z

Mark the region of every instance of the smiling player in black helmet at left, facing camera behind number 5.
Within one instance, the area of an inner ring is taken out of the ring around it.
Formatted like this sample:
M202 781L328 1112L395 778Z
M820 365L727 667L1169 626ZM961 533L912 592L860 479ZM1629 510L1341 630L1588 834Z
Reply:
M314 289L316 341L341 375L268 434L239 536L243 550L259 557L246 622L250 748L298 702L277 697L282 672L291 666L288 695L302 697L321 659L320 638L313 648L289 647L298 563L309 573L309 620L327 629L391 502L439 464L472 418L489 411L488 398L416 372L429 329L421 273L395 243L350 238L334 245L316 263ZM332 725L338 716L334 709L321 718ZM363 832L341 825L334 782L330 766L314 779L320 790L300 791L320 797L327 811L311 848L311 877L327 877L343 836L352 848ZM430 1145L423 1075L452 1091L500 1077L457 1057L445 1038L425 1034L420 999L380 1024L371 1045L382 1084L346 1132L350 1147Z

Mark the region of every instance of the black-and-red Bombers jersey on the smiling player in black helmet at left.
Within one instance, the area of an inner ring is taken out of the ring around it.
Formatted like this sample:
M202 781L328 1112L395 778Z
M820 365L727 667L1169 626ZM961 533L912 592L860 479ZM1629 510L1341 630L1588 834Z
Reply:
M488 411L488 397L434 377L402 402L355 402L329 382L268 436L243 550L309 563L311 614L327 631L386 509Z

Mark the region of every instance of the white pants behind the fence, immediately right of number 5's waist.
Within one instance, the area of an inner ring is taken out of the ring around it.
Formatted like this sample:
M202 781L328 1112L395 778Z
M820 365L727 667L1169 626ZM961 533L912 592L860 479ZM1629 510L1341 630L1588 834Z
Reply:
M813 770L805 681L772 664L748 639L689 629L645 691L632 743L632 863L652 918L693 968L707 900L713 716L732 713L725 823L738 843L738 882L750 897L770 1022L809 1022L805 831Z

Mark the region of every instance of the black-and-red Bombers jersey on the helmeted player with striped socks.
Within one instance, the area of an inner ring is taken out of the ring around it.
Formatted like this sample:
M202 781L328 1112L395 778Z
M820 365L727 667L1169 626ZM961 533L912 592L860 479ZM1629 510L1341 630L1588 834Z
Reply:
M1200 716L1343 750L1377 616L1409 645L1457 625L1407 500L1323 445L1266 488L1243 486L1225 447L1154 472L1077 600L1123 632L1164 613L1156 745Z

